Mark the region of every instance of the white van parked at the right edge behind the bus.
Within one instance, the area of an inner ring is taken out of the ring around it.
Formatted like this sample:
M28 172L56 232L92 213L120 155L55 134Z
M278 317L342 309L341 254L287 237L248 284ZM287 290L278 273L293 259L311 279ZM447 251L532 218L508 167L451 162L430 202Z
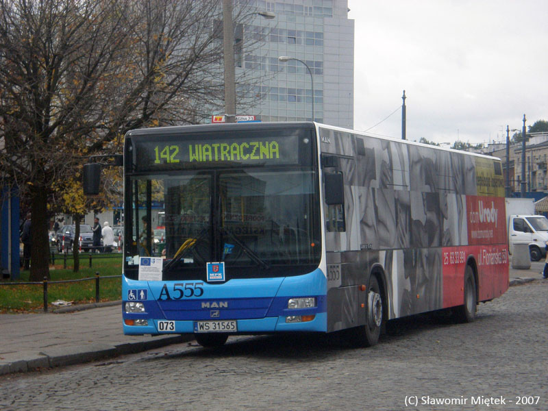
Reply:
M514 251L514 244L525 242L529 244L531 261L540 260L546 256L548 219L532 215L508 216L508 241L510 254Z

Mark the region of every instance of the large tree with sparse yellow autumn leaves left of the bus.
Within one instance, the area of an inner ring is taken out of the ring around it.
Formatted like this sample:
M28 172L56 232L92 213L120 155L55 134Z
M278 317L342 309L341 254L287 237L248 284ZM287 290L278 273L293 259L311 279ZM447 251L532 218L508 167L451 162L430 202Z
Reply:
M196 123L222 101L218 6L0 0L0 185L29 203L32 280L49 276L51 214L93 207L77 178L89 155L121 152L129 129Z

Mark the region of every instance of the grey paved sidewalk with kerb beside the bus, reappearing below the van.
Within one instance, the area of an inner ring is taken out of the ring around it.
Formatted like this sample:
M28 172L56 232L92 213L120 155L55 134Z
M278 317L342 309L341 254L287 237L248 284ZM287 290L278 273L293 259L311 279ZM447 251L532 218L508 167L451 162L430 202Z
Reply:
M510 286L541 279L543 266L543 261L532 262L528 270L510 266ZM0 314L0 375L137 353L192 338L125 336L120 301L90 306L48 314Z

